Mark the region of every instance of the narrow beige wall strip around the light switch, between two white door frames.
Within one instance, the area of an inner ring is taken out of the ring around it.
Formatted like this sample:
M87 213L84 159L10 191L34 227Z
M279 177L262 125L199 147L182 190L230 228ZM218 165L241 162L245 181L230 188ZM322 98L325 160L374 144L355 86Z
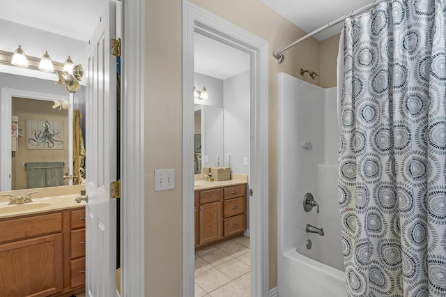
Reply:
M146 1L144 226L146 296L181 296L181 0ZM154 191L154 170L175 190Z

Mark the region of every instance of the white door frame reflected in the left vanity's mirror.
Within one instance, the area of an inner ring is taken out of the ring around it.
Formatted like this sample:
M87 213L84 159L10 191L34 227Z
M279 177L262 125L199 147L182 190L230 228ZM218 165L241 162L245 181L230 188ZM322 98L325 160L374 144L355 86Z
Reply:
M24 91L17 89L1 88L1 117L0 117L0 191L11 190L11 112L13 110L13 97L28 98L34 100L70 100L71 96L60 96L47 93L38 93L33 91ZM6 116L3 116L6 115ZM72 104L68 109L68 128L72 127ZM6 137L8 135L8 137ZM71 149L71 153L68 152L68 166L72 170L71 159L72 158L72 137L68 137L68 148Z

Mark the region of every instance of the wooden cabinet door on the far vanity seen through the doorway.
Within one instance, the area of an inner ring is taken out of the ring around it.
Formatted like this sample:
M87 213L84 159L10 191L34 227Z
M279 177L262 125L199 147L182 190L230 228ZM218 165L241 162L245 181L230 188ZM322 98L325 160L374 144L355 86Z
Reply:
M204 245L222 238L222 203L200 205L199 244Z

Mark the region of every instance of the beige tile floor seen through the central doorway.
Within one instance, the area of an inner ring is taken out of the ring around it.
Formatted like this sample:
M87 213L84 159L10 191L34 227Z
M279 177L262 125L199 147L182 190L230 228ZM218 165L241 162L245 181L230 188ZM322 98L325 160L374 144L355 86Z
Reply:
M195 297L249 297L249 238L240 236L195 252Z

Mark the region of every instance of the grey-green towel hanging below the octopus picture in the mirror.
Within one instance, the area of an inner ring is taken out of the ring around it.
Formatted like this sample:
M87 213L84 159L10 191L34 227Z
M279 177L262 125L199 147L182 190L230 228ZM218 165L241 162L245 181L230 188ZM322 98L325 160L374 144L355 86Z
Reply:
M28 188L45 188L63 185L63 162L26 163Z

